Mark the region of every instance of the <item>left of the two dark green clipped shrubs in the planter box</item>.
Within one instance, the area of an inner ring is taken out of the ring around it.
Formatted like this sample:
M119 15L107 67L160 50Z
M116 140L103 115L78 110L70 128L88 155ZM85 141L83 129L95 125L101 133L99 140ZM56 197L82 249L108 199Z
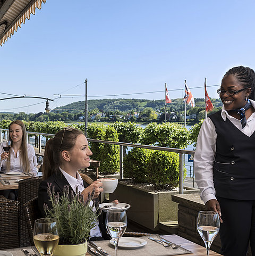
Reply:
M147 162L152 150L134 147L123 159L123 176L135 183L147 183Z

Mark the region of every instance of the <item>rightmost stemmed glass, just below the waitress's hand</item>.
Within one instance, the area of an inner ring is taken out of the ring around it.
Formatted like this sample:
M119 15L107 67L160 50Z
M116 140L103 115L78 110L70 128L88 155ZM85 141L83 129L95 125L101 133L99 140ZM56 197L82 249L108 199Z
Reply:
M206 245L206 255L209 256L211 243L219 232L219 216L214 211L200 211L197 220L198 233Z

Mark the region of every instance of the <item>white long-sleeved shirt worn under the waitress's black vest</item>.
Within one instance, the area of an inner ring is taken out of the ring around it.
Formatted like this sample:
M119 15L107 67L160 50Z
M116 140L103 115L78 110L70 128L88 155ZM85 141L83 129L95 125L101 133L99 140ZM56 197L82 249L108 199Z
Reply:
M255 101L250 100L251 105L255 109ZM247 136L251 136L255 131L255 112L247 119L247 124L242 128L241 121L229 115L224 108L222 108L222 118L230 120L233 125L242 131ZM198 135L198 142L194 154L194 174L196 183L201 191L201 199L207 202L211 199L216 199L214 188L214 160L216 152L217 134L213 121L206 118L203 121ZM234 139L234 138L233 138Z

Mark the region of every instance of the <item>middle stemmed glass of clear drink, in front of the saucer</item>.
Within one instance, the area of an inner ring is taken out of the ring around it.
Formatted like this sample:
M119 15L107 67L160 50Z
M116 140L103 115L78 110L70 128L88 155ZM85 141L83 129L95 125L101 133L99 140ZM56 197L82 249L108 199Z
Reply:
M126 219L126 211L123 209L108 210L106 213L106 228L113 238L115 256L118 255L118 240L122 237L126 230L128 221Z

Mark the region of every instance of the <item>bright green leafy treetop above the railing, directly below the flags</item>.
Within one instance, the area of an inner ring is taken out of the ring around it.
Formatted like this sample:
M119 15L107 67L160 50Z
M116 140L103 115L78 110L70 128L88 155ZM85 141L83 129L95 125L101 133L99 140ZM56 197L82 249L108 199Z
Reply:
M162 147L184 148L189 145L189 131L179 123L150 123L141 136L140 143Z

